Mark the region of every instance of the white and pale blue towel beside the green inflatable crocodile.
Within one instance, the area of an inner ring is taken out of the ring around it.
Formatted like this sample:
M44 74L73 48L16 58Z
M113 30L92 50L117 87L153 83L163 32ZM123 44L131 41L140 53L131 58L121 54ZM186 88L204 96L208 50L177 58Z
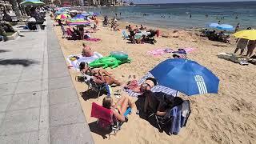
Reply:
M71 61L70 58L74 57L74 56L77 56L78 59L75 59L74 61ZM102 58L102 54L99 54L98 52L94 52L94 55L91 56L91 57L83 57L81 54L78 54L78 55L70 55L66 58L66 60L68 62L70 62L70 66L72 66L72 68L74 70L79 70L79 64L81 62L93 62L94 60L98 59L98 58Z

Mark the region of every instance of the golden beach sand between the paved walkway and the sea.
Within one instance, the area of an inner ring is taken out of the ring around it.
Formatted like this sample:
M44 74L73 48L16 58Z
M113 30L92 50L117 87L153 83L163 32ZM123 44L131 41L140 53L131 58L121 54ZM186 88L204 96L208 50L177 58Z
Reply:
M127 22L121 22L124 28ZM64 56L70 54L81 54L82 42L71 41L62 38L59 26L55 26L58 41L61 45ZM173 35L172 30L162 30L165 34ZM96 118L90 118L91 103L102 104L100 98L87 99L89 95L83 93L87 90L85 83L77 82L76 76L79 72L70 70L74 86L78 92L78 97L82 105L82 110L89 123L91 134L95 143L254 143L256 142L256 70L254 65L240 66L234 62L218 58L220 52L232 53L235 42L226 44L221 42L210 42L205 38L199 38L193 31L181 31L177 33L178 38L157 38L155 45L151 44L130 44L122 38L122 32L111 31L109 28L100 27L97 33L91 34L93 38L101 38L101 42L86 42L94 51L98 51L104 56L111 51L125 51L132 59L131 63L122 64L115 69L106 69L114 74L115 78L121 82L127 82L129 75L141 78L149 70L154 68L159 62L171 57L170 54L163 56L150 56L146 54L148 50L156 48L178 48L193 47L195 50L188 54L188 57L202 66L212 70L220 79L218 94L202 94L186 97L179 94L181 98L189 99L192 113L178 135L168 135L160 133L158 128L152 126L150 122L139 118L135 114L129 116L129 121L122 125L118 134L106 135L105 132L95 126ZM176 35L177 35L176 34ZM67 63L68 64L68 63ZM114 87L118 90L120 87ZM123 94L124 95L124 94ZM130 97L131 98L131 97ZM131 98L133 102L137 98Z

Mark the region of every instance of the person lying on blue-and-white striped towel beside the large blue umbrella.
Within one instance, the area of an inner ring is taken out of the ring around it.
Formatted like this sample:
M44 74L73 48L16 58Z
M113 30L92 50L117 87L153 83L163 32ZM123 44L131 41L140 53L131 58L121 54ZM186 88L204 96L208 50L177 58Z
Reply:
M158 82L154 78L146 78L146 81L141 85L138 85L136 80L130 81L126 84L125 88L134 91L135 93L143 94L146 90L150 90L152 87L156 86Z

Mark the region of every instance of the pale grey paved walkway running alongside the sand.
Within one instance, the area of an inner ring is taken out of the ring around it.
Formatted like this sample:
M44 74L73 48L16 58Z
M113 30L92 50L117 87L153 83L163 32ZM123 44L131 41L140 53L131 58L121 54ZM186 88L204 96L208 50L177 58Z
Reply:
M0 143L94 143L62 50L46 30L0 42Z

